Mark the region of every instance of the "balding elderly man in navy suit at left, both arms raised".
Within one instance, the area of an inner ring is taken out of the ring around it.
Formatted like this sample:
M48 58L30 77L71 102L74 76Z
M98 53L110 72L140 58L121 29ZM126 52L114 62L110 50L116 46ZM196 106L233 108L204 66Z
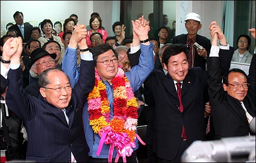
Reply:
M79 25L74 31L68 49L74 56L77 45L87 48L86 35L85 25ZM50 68L43 71L39 77L40 96L36 99L24 93L20 87L20 44L22 40L19 37L18 50L8 56L11 62L6 102L24 121L27 129L26 159L37 162L88 162L89 149L83 132L82 106L95 82L92 53L81 53L81 73L74 89L62 70Z

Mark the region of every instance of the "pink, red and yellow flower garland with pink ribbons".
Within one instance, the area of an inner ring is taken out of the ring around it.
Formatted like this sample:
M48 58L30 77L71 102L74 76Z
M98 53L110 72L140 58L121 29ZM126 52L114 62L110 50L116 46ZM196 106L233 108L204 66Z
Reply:
M112 85L114 116L111 120L106 86L95 69L95 86L88 96L89 123L101 137L96 154L99 156L103 143L110 144L109 162L112 161L114 147L117 150L116 159L122 156L126 162L125 155L132 155L132 148L136 147L138 103L131 84L120 67L112 79Z

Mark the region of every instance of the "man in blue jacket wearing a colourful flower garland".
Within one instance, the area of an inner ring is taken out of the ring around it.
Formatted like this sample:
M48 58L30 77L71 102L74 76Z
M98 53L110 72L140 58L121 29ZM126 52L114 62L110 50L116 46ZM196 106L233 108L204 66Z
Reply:
M133 92L154 69L154 60L153 45L147 35L150 31L148 22L142 16L132 24L133 50L141 48L141 55L139 64L130 72L124 73L118 67L118 55L111 45L90 49L95 62L95 87L83 107L90 162L117 162L120 156L123 162L136 162L138 104ZM75 63L68 57L62 62L62 69L74 82L72 85L76 84L79 75Z

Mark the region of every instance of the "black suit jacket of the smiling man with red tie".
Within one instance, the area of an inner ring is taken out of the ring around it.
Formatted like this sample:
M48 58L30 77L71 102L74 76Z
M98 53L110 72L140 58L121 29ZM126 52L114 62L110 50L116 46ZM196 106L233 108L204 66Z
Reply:
M220 50L229 62L223 68L229 69L233 49ZM223 58L225 59L225 58ZM174 80L160 70L153 70L144 82L145 102L150 106L147 116L146 143L153 146L157 156L172 160L178 152L182 126L185 126L188 143L205 140L204 108L208 99L208 72L200 67L190 68L182 84L184 111L178 109L179 100Z

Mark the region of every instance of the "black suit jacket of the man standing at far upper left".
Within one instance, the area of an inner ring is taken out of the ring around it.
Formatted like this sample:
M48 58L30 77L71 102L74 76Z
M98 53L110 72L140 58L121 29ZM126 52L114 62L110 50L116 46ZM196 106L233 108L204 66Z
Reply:
M22 42L23 43L26 43L29 41L31 35L30 35L30 32L33 28L33 25L31 25L29 22L25 22L24 23L24 37L22 36L22 32L20 32L20 29L18 28L18 25L17 24L14 24L12 26L10 26L9 30L15 30L18 32L18 36L22 37Z

